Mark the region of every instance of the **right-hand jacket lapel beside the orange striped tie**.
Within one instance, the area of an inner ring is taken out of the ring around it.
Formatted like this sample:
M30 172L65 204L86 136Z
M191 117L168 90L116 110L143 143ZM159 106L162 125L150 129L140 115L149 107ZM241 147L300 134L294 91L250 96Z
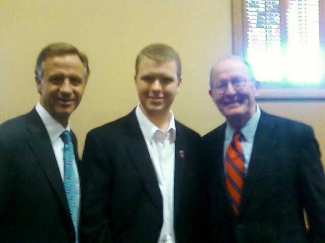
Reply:
M273 146L276 144L277 137L272 136L272 132L275 128L276 123L273 117L261 111L261 118L258 121L248 173L245 179L240 212L249 204L249 198L264 171L268 156L274 152Z

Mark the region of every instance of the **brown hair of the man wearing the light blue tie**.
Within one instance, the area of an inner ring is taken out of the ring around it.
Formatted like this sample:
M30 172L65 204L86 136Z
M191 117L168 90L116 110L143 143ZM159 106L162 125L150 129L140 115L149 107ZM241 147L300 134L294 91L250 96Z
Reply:
M48 45L45 47L40 55L37 58L36 66L35 66L35 75L38 76L39 78L43 77L43 71L44 71L44 62L46 58L49 56L53 55L62 55L62 54L76 54L80 58L84 70L85 70L85 77L86 79L89 76L90 70L88 66L88 58L85 54L82 52L79 52L79 50L72 46L71 44L64 43L64 42L58 42L58 43L53 43L51 45Z

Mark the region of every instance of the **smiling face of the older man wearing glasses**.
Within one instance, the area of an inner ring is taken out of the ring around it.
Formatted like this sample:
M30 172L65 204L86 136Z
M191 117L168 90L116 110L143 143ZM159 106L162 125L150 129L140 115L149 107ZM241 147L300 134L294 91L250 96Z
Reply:
M258 95L247 66L238 59L224 59L214 66L211 78L209 94L213 102L227 120L243 126L256 112L255 97ZM240 91L236 91L231 84L231 80L236 78L246 79ZM223 93L216 92L215 88L220 84L226 85Z

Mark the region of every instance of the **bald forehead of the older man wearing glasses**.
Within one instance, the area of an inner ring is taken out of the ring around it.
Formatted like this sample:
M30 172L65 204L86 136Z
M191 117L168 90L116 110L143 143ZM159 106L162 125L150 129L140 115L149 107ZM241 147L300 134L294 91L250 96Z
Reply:
M231 78L234 76L240 76L250 78L250 73L247 66L240 60L236 59L225 59L217 63L213 68L213 80Z

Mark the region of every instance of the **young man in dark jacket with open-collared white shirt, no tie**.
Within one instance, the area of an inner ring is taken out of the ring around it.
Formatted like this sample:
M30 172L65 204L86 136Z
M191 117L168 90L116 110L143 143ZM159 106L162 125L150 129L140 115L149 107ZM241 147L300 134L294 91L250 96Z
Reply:
M136 60L140 104L90 131L81 167L81 242L202 242L200 136L174 120L181 62L154 44Z

